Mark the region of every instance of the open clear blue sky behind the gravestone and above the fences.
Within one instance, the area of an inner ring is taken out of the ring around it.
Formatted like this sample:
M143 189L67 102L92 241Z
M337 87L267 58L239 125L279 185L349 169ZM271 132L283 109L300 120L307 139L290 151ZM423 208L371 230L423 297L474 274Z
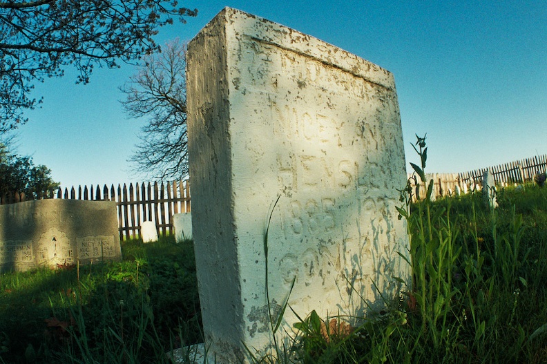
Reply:
M189 40L224 6L313 35L394 73L408 162L428 133L430 172L459 172L547 153L547 3L541 1L180 1L198 8L162 28ZM142 119L119 86L133 66L97 69L88 85L67 70L35 95L17 152L62 186L140 182L131 157Z

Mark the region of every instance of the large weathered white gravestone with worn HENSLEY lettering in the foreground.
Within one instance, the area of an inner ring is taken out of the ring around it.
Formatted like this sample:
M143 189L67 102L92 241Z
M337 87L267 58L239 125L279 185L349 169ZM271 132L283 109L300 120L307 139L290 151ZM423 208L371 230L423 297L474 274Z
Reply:
M410 267L398 254L408 250L395 209L406 173L391 73L225 8L189 44L187 89L192 232L211 356L237 363L246 347L267 351L267 289L274 320L289 292L300 316L323 318L364 316L381 295L399 294L393 277L409 281ZM283 327L296 321L287 309Z

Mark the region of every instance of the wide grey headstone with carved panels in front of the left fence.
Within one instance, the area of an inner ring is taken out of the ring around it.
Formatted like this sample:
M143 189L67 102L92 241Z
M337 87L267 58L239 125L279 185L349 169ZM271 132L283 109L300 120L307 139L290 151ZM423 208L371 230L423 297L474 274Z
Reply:
M38 200L0 206L0 269L119 260L116 204Z

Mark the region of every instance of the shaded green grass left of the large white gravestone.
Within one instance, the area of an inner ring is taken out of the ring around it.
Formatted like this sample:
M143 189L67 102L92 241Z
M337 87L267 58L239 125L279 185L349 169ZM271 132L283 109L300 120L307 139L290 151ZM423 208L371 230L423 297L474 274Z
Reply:
M166 363L202 341L191 241L122 242L122 262L0 276L0 363Z

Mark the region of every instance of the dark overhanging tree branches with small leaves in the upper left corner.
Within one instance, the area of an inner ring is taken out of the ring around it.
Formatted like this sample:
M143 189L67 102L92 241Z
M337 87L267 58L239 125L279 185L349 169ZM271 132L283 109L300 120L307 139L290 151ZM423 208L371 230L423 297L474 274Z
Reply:
M94 66L157 51L158 28L195 15L177 1L0 0L0 132L26 122L23 110L41 102L30 95L36 82L75 66L85 84Z

